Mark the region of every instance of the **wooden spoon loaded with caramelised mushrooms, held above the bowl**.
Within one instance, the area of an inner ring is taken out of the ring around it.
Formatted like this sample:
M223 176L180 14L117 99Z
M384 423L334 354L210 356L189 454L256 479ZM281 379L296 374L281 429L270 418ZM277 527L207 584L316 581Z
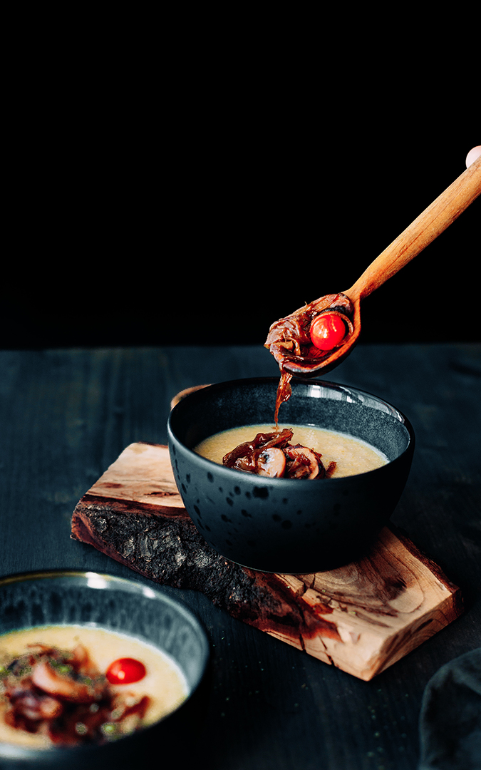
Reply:
M265 346L276 358L281 372L312 377L320 370L324 373L337 367L349 355L359 338L361 300L379 289L379 286L443 233L473 203L479 192L481 156L374 259L350 289L322 296L273 323ZM312 318L324 310L330 312L332 308L342 315L349 331L342 343L333 350L314 350L309 338ZM316 357L312 357L312 350Z

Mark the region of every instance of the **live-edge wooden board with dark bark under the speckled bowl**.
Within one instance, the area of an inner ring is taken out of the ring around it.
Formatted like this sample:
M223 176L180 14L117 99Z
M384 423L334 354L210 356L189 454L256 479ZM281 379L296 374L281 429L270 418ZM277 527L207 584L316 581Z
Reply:
M385 527L361 560L316 574L269 574L217 554L175 486L169 450L131 444L79 500L72 537L159 584L218 607L299 650L369 680L459 617L459 588Z

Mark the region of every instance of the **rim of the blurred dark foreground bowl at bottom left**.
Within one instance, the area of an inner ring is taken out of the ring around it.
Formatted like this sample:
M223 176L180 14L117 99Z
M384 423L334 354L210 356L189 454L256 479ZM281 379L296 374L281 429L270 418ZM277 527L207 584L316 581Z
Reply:
M92 589L105 589L105 588L123 588L124 591L127 591L128 593L132 594L142 594L145 596L145 598L154 599L155 601L162 601L164 604L167 604L171 608L175 608L175 611L179 611L180 614L184 616L184 618L189 621L190 624L195 628L196 634L200 641L200 648L201 648L201 663L199 666L199 677L197 681L195 682L194 687L189 692L189 695L185 698L184 701L182 701L177 708L173 709L173 711L169 711L168 714L166 714L161 719L155 721L152 723L152 725L146 725L144 728L142 728L139 731L136 731L134 733L129 733L127 735L122 736L122 738L119 738L114 742L113 745L119 745L119 743L124 743L126 741L131 741L132 739L138 738L143 733L146 733L148 731L152 731L155 729L157 725L162 724L162 722L168 720L173 715L175 715L178 711L180 711L187 703L191 700L193 695L196 691L198 691L202 680L205 676L205 673L207 671L208 665L209 665L209 658L210 658L210 647L209 647L209 638L207 636L207 632L205 631L205 628L202 624L202 622L199 620L197 615L194 611L192 611L189 607L187 607L185 604L182 603L182 601L179 601L178 599L172 598L168 594L166 594L164 591L160 591L158 588L151 588L149 585L144 584L141 581L131 579L129 577L121 577L119 575L110 574L107 572L99 572L95 570L75 570L75 569L65 569L62 567L58 568L52 568L52 569L45 569L45 570L35 570L35 571L28 571L28 572L18 572L18 573L11 573L8 575L4 575L0 577L0 591L2 591L3 588L6 588L8 585L12 585L15 583L22 583L22 582L28 582L28 581L39 581L39 580L52 580L59 577L72 577L72 578L80 578L85 579L85 588L92 588ZM89 581L90 584L89 584ZM96 584L95 584L96 583ZM89 621L84 621L82 623L75 623L70 625L80 626L87 625ZM38 625L38 628L44 628L45 626L48 626L48 624L35 624L34 626L28 626L28 628L36 628ZM58 625L53 623L52 625ZM65 624L68 625L68 624ZM18 631L22 631L24 627L19 628ZM27 628L27 627L25 627ZM90 625L89 628L92 628ZM103 627L99 627L103 628ZM12 633L12 631L2 631L2 628L0 628L0 638L2 638L2 635ZM119 633L122 633L122 631L119 631ZM134 636L135 634L129 634L129 636ZM142 637L139 637L139 639L142 639ZM152 643L154 644L154 643ZM155 646L155 644L154 644ZM17 744L10 744L10 743L2 743L0 742L0 758L9 758L9 759L15 759L19 760L22 759L24 761L36 761L38 759L47 759L48 757L55 755L55 757L59 757L61 755L65 755L66 758L68 756L75 756L81 755L82 753L92 752L92 751L102 751L108 750L109 748L109 742L104 744L89 744L89 745L78 745L78 746L70 746L65 747L62 745L58 746L52 746L50 748L29 748Z

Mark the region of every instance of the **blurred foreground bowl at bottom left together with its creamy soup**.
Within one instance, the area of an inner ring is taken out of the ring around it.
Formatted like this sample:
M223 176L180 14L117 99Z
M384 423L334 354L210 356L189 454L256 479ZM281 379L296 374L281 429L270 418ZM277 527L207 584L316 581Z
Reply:
M140 581L52 571L0 579L0 767L179 766L202 714L209 641ZM190 766L190 755L189 755Z

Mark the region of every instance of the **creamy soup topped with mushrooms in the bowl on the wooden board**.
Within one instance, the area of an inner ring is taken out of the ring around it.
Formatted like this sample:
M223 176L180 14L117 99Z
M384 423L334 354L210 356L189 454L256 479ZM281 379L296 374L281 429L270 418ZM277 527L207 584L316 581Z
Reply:
M362 474L388 462L386 455L366 441L310 425L279 426L277 430L269 425L249 425L223 430L200 442L195 451L226 467L290 479Z

